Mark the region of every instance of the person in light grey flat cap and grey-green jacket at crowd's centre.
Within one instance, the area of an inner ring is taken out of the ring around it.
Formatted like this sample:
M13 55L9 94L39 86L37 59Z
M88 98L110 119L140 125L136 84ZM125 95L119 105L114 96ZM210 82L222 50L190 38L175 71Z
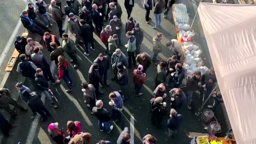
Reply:
M112 54L111 57L111 66L114 72L114 77L111 78L111 81L115 81L117 78L117 64L122 62L125 67L128 66L128 61L124 53L120 49L116 49L116 51Z

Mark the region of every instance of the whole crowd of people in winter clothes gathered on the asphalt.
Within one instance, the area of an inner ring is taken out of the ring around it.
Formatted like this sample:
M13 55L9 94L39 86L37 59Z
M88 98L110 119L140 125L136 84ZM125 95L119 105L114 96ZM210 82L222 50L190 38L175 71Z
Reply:
M90 49L95 51L93 33L100 37L102 43L106 46L104 53L99 53L95 58L88 72L88 83L82 83L82 92L84 96L84 103L90 108L91 114L98 118L98 127L100 131L106 130L110 133L114 126L111 125L112 119L115 123L121 121L122 110L124 101L130 98L128 85L128 70L132 71L132 79L134 83L135 95L140 97L143 95L142 86L146 83L147 69L154 64L156 66L154 98L150 100L151 105L151 123L157 127L161 127L162 118L166 114L166 88L170 89L171 110L170 117L167 120L167 130L169 138L175 137L182 122L182 115L178 114L176 110L187 107L191 110L191 102L193 92L200 89L201 95L204 93L209 95L213 90L213 85L217 82L214 69L206 71L201 76L200 71L194 73L187 79L187 93L183 92L180 87L182 86L183 79L186 77L186 70L183 68L185 53L181 49L180 43L177 39L171 39L166 43L170 47L173 55L167 60L159 61L157 55L162 52L162 33L158 33L153 37L153 57L147 52L141 52L140 47L143 41L143 31L137 21L131 17L132 9L134 6L133 0L125 0L124 5L127 12L127 22L125 23L125 34L127 43L124 45L127 49L127 56L120 49L122 44L121 35L122 31L122 8L117 0L102 1L102 0L82 0L80 4L77 0L67 0L67 5L63 7L65 13L61 10L61 1L52 0L49 6L49 12L52 19L57 22L59 27L59 35L63 39L59 41L59 37L51 34L52 23L49 15L47 14L47 5L42 0L37 0L35 6L28 3L28 10L21 13L21 21L25 28L31 33L39 34L42 36L44 46L32 38L25 38L21 36L16 37L14 43L15 48L20 53L21 62L18 64L17 72L21 73L24 77L32 79L36 88L43 93L46 101L50 103L52 108L58 108L52 99L54 95L52 90L49 89L49 82L53 85L60 83L61 79L67 85L66 92L73 91L72 75L69 74L69 65L74 63L74 68L78 67L78 59L76 54L77 46L84 47L84 54L89 55L88 43L91 44ZM156 18L156 25L153 28L161 27L162 13L164 18L172 7L175 0L159 0L156 4L154 1L145 0L143 7L146 9L145 20L149 21L149 12L153 9ZM41 15L42 19L38 17ZM68 30L71 36L75 37L75 41L62 30L62 20L65 16L68 19ZM105 25L103 22L107 22ZM94 23L94 26L93 26ZM123 40L124 41L124 40ZM58 79L52 77L50 65L47 58L42 53L43 47L50 52L50 59L55 62L58 67ZM70 63L65 58L66 53L71 61ZM133 65L132 65L133 64ZM102 100L99 97L103 92L99 87L109 86L108 70L111 70L114 76L111 81L115 81L119 85L119 90L115 90L109 94L109 103L111 106L111 114L103 108ZM168 79L169 78L169 79ZM74 82L75 83L75 82ZM28 107L33 112L31 118L35 118L36 114L42 116L42 121L46 122L51 116L49 110L44 107L41 100L41 94L31 91L21 82L18 82L15 87L19 91L20 97L25 101ZM214 105L209 106L213 111L217 109L219 102L222 102L221 94L219 91L213 93L215 99ZM57 99L56 99L57 100ZM57 100L58 102L58 100ZM12 115L13 118L18 118L17 113L10 108L10 105L18 107L20 110L27 110L19 105L19 103L11 98L11 93L8 89L0 90L0 107L5 109ZM176 110L175 110L176 109ZM13 135L9 130L14 125L9 124L6 119L0 114L1 130L6 136ZM65 137L65 132L58 128L58 123L49 124L48 130L50 137L56 143L91 143L92 135L87 132L82 132L82 123L79 121L67 122L68 137ZM4 127L4 128L3 128ZM131 136L129 129L125 127L123 132L119 135L117 143L130 143ZM157 139L150 134L147 134L142 139L143 143L157 143ZM100 140L99 144L111 143L110 141Z

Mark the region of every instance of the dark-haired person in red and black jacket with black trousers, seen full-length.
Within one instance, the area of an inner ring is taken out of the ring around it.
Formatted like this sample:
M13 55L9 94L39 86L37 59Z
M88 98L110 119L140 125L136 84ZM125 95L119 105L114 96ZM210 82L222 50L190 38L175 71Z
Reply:
M60 55L58 57L58 71L59 71L59 80L60 79L64 79L66 85L68 86L68 90L66 90L66 92L72 92L73 89L72 89L72 86L73 86L73 83L72 83L72 79L70 78L70 75L69 75L69 71L68 71L68 61L62 56Z

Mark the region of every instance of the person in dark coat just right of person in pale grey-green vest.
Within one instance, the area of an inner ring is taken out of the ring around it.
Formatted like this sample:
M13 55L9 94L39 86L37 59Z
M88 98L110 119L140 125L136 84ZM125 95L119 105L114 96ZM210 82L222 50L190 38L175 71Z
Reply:
M136 55L140 54L140 46L143 41L143 31L140 29L139 23L135 23L134 28L132 29L132 34L136 37Z

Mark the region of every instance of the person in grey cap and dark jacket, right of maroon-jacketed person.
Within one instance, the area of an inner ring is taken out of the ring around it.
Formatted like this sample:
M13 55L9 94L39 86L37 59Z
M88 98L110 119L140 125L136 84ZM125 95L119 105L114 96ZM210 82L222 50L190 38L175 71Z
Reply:
M116 15L114 15L113 19L110 20L109 25L113 28L113 34L121 36L123 23L121 19L118 19ZM121 38L118 38L118 45L122 45Z

